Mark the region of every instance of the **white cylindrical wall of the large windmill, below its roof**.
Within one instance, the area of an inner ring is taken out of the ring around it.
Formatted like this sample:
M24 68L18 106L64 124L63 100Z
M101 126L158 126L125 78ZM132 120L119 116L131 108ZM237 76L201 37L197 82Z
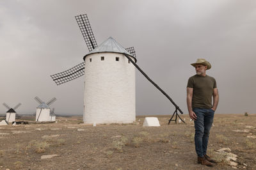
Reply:
M124 54L101 52L86 56L84 77L84 123L135 121L135 67Z

